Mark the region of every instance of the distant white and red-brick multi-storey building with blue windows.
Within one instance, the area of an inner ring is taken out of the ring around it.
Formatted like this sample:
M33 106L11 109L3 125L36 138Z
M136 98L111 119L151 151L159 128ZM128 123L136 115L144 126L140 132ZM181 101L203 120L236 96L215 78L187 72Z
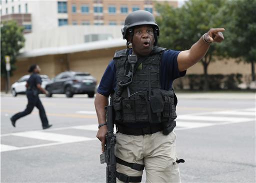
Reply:
M154 15L164 0L0 0L1 21L16 20L24 33L73 25L122 25L128 13L144 9ZM178 1L167 1L178 6Z

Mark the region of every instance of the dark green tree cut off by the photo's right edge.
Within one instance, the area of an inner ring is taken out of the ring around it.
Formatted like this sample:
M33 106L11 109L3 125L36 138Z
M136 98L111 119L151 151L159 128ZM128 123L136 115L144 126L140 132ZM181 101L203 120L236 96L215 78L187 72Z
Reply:
M227 1L222 9L226 24L226 39L220 46L226 57L251 64L251 79L255 81L256 63L256 0Z

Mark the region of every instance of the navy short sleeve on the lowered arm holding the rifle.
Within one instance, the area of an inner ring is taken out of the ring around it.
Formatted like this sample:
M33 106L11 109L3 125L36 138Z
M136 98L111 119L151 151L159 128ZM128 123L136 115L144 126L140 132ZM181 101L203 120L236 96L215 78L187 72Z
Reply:
M106 67L106 70L100 80L97 92L105 97L108 97L115 88L116 76L114 60L111 60Z

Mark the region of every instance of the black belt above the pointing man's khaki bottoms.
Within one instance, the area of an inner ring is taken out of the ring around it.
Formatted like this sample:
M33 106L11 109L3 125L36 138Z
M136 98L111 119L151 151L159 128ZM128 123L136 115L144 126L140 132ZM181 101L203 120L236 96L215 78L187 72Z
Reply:
M156 132L162 131L163 126L162 124L157 125L148 125L147 127L143 128L130 128L123 125L116 124L117 132L120 132L122 134L126 135L145 135L145 134L154 134Z

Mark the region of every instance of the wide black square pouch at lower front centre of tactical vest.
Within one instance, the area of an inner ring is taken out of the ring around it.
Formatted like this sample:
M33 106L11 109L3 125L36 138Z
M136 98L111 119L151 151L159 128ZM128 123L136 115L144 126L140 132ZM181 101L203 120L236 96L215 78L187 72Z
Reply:
M148 113L144 98L132 97L121 102L123 123L148 123Z

